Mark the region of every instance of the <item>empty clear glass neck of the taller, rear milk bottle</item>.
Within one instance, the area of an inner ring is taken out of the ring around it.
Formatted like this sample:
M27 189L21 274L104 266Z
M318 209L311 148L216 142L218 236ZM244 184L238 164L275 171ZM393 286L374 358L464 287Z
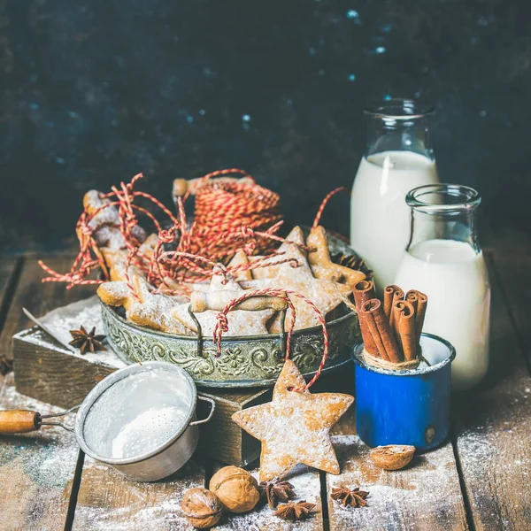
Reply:
M366 157L384 151L412 151L431 160L429 125L433 110L413 100L394 99L366 109Z

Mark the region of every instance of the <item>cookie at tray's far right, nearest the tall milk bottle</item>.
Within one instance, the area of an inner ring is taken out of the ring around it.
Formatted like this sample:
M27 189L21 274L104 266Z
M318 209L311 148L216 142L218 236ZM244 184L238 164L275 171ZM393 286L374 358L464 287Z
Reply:
M314 248L308 252L308 262L312 267L312 273L318 279L341 282L353 287L366 278L365 273L361 271L355 271L332 262L328 250L327 232L324 227L319 225L319 227L312 228L306 239L306 245L309 248Z

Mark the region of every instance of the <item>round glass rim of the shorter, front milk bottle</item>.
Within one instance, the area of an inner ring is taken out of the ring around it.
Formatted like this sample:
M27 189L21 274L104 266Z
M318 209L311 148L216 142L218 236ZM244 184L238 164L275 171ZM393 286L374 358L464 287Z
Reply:
M473 211L481 203L480 193L464 184L427 184L405 196L413 210L427 214Z

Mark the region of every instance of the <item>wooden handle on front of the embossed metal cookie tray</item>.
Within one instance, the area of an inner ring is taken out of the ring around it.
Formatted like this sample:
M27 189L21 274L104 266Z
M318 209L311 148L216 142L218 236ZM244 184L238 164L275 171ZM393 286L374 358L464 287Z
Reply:
M206 312L207 310L221 312L228 303L239 296L242 296L241 291L232 291L230 289L211 293L193 291L190 304L194 313ZM233 311L247 310L250 312L258 312L260 310L274 310L275 312L281 312L281 310L286 310L287 307L288 303L279 296L253 296L235 306Z

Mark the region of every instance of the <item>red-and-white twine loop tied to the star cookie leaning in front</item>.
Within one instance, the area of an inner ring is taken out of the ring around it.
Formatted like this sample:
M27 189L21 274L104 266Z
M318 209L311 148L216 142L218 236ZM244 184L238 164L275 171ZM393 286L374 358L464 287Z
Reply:
M317 314L317 318L319 319L320 326L323 331L323 355L321 358L321 361L319 363L319 368L317 369L317 372L313 375L313 378L311 381L306 383L302 388L300 389L291 389L292 391L304 391L306 389L310 389L312 385L317 381L317 379L320 376L320 373L323 370L323 367L327 363L328 358L328 332L327 332L327 324L325 322L325 318L323 317L323 314L320 312L319 308L312 303L312 301L305 297L304 295L301 295L300 293L297 293L296 291L292 291L291 289L255 289L253 291L248 291L241 296L238 296L237 298L233 299L230 303L225 306L222 312L219 312L217 315L218 322L216 323L216 326L214 327L214 331L212 334L213 341L216 344L216 348L218 350L218 356L221 353L221 335L223 332L228 331L228 319L227 319L227 313L231 310L235 309L235 307L238 304L241 304L243 301L247 300L250 297L253 296L278 296L282 300L286 301L286 303L289 306L289 309L291 310L291 316L289 319L289 330L288 330L288 337L286 338L286 358L289 359L289 353L291 351L291 335L293 334L293 329L295 327L296 322L296 311L295 306L293 302L289 299L289 295L296 296L304 301L304 303L309 304L312 307L312 310Z

